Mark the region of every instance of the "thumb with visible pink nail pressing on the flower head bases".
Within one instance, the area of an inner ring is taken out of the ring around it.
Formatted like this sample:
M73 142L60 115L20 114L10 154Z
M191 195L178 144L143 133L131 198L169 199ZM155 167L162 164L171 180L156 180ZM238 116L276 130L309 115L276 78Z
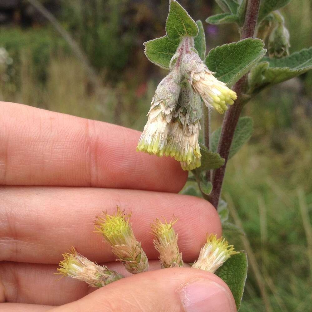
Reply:
M51 311L234 312L236 306L217 275L169 268L123 278Z

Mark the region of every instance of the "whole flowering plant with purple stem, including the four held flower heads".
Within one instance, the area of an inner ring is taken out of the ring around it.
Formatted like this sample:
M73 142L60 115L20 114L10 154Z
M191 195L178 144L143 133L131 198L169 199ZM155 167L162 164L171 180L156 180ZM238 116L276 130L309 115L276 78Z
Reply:
M242 231L227 221L227 205L220 197L227 161L253 130L252 119L240 116L242 109L264 88L312 69L312 47L289 55L290 34L278 10L290 1L216 0L224 12L208 17L206 22L236 24L240 40L206 54L202 22L195 22L177 1L170 0L166 35L144 43L146 57L168 74L155 91L137 150L171 156L180 162L183 170L189 171L188 180L195 183L192 193L211 202L222 228L236 233ZM213 132L212 110L224 114L222 126ZM185 265L173 229L175 222L157 219L152 225L163 268ZM95 223L96 232L103 235L129 272L148 269L148 259L134 237L129 216L118 210L113 216L105 213L97 217ZM59 273L85 280L91 286L100 287L123 277L89 261L75 249L63 256ZM239 309L247 275L245 251L236 252L224 239L207 235L192 267L221 277Z

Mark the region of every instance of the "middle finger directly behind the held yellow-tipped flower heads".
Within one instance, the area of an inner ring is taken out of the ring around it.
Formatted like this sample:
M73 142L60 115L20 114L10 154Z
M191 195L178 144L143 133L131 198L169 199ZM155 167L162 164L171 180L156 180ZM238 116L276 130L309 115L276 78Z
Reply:
M150 224L178 217L174 229L186 262L194 261L206 233L221 235L218 213L198 197L100 188L0 188L0 260L58 263L70 246L97 262L114 261L110 246L94 233L94 219L116 205L132 212L134 235L149 259L157 259Z

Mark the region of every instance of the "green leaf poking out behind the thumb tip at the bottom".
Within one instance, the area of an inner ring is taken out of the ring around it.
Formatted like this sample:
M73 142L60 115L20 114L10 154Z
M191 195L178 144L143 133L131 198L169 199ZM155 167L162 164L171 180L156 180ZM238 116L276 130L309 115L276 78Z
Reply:
M232 291L237 311L241 305L245 281L247 277L247 256L246 251L231 256L225 263L216 271L216 275L224 280Z

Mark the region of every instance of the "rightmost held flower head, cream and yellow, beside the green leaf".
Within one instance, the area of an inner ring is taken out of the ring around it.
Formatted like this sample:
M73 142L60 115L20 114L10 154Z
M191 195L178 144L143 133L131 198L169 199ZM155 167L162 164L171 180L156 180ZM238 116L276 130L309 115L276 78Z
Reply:
M217 239L217 235L210 234L207 236L207 242L202 247L198 260L194 262L192 268L214 273L228 258L236 253L234 246L229 245L224 238Z

